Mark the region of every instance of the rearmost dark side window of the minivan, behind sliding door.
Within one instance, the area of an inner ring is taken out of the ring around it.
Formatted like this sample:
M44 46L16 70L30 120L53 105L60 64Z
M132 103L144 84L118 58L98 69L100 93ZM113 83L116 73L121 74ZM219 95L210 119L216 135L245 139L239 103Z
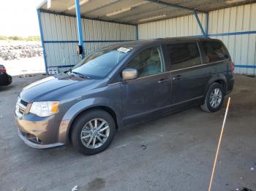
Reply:
M229 58L226 47L219 41L202 42L203 50L206 53L206 63L223 61Z

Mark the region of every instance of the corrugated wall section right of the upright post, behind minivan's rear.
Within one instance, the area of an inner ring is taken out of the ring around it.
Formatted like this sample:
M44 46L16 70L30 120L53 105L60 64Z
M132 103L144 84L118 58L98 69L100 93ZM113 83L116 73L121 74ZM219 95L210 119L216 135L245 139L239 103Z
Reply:
M253 68L256 66L256 33L249 34L253 31L256 31L256 4L209 13L209 34L226 44L237 74L256 74Z

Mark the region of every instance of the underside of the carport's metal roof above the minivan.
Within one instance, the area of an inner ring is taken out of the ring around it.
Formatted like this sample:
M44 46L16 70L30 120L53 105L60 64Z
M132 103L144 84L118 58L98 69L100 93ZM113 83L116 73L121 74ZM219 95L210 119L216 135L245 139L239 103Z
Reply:
M121 23L147 23L197 12L250 4L255 0L80 0L80 14L94 19ZM37 7L51 12L75 15L75 0L45 0Z

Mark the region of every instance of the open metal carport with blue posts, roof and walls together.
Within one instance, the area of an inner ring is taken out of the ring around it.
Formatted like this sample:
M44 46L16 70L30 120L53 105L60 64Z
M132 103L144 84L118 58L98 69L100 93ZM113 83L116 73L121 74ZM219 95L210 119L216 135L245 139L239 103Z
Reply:
M50 7L48 7L48 2L51 2ZM91 44L97 47L96 44L99 43L124 42L131 40L131 36L134 36L132 40L154 39L164 36L164 33L168 34L167 36L173 36L173 34L176 36L178 30L184 29L187 22L186 31L181 30L178 36L213 36L215 38L224 36L223 40L230 47L230 52L233 52L234 60L237 61L236 67L243 68L241 69L242 74L247 68L252 69L249 71L250 74L255 74L253 70L255 69L253 62L255 61L254 43L256 38L253 35L256 34L255 2L256 0L44 0L37 7L37 13L45 69L46 71L48 69L45 45L47 45L48 55L51 55L49 51L56 52L55 50L62 50L63 47L67 48L65 51L71 51L72 55L74 51L70 50L70 46L75 50L75 45L79 44L83 50L83 58L85 52L87 54L88 50L92 50ZM201 13L197 14L198 12ZM192 14L195 15L195 18ZM182 18L184 19L181 20ZM170 20L172 20L171 23ZM106 25L106 23L108 24ZM64 31L60 27L61 25L64 26ZM70 27L65 28L67 25L70 25L72 30ZM106 26L108 26L107 29ZM119 31L117 26L120 26ZM125 29L124 26L131 30ZM102 28L107 31L102 31ZM66 29L67 31L65 31ZM51 30L54 31L54 34L51 34ZM111 38L109 31L113 33ZM66 34L66 37L59 38L58 36L63 33ZM98 33L101 33L100 36ZM94 34L98 35L94 36ZM118 37L118 34L122 34L123 37ZM129 36L124 37L125 34L129 34ZM139 38L142 34L146 35ZM249 54L241 55L242 49L249 48ZM57 51L58 54L59 58L64 57ZM241 62L241 58L244 58L243 62L246 61L246 65ZM50 59L49 56L48 59ZM54 63L55 61L49 62ZM59 63L61 64L58 67L66 68L73 64L71 60L69 63L63 64L62 61Z

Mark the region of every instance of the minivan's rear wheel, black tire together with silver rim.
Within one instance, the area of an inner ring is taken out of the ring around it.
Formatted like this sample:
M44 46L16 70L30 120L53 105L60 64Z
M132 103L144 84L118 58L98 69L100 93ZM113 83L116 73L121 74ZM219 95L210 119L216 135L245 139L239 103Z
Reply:
M218 90L219 92L217 93ZM205 112L210 112L210 113L217 112L222 107L224 98L225 98L224 87L221 84L214 82L208 88L204 104L201 105L200 107Z

